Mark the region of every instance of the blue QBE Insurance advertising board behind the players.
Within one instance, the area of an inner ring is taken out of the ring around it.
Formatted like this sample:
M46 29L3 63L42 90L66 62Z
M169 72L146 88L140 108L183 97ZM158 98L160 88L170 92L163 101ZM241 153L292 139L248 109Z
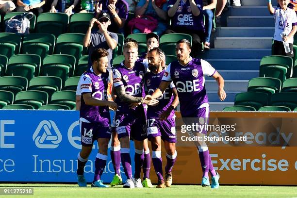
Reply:
M0 181L76 182L80 149L78 111L0 110ZM85 165L88 182L93 181L97 152L96 141ZM110 182L113 176L108 151L102 180Z

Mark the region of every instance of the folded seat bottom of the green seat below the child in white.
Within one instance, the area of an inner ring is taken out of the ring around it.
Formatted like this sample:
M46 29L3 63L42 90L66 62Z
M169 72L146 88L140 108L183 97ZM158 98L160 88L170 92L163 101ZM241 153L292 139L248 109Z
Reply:
M277 78L284 82L287 79L288 68L285 65L262 65L259 73L260 77Z

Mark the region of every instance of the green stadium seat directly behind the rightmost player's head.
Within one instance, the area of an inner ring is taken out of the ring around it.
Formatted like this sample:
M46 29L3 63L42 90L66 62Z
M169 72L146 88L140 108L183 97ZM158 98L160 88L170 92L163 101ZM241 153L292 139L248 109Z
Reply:
M166 55L175 56L175 46L176 42L181 39L187 39L190 41L192 46L192 36L185 33L168 33L163 34L160 38L160 48L164 51Z

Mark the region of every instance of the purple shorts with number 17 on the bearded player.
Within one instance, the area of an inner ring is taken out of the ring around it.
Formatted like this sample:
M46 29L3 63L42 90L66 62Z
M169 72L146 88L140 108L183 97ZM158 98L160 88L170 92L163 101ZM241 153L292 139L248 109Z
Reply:
M164 121L150 118L147 119L147 126L148 139L161 136L163 141L176 143L175 118Z

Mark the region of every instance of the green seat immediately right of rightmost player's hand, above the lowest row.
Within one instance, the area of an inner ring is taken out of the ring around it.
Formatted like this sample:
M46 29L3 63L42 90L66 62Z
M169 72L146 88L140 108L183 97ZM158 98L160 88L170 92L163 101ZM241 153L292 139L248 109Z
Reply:
M268 94L262 92L243 92L235 96L234 105L251 106L258 110L268 103Z

